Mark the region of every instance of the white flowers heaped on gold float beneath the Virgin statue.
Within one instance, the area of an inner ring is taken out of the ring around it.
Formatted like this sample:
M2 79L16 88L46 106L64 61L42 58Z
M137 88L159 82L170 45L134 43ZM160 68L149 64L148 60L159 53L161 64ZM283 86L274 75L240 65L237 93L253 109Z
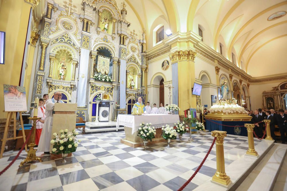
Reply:
M244 114L247 115L247 111L244 107L237 104L236 99L216 101L214 105L209 109L211 114Z

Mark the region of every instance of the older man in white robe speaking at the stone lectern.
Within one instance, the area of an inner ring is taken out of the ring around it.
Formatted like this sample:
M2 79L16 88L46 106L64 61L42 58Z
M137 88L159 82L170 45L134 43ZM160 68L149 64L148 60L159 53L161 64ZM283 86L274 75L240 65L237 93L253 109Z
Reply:
M64 103L62 100L62 93L57 91L54 93L52 99L46 101L46 119L43 125L43 130L41 133L38 151L44 151L45 154L50 154L50 141L52 135L52 122L53 122L53 109L55 103Z

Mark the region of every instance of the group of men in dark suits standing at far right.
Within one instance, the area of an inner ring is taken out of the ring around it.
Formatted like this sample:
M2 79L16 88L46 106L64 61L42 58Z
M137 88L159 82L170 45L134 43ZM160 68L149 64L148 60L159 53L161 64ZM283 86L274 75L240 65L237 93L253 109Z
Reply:
M276 142L276 136L275 136L275 125L278 125L278 128L281 133L281 141L284 144L285 143L285 133L287 135L287 110L279 109L278 114L274 111L274 109L270 109L269 111L263 112L262 109L256 109L253 112L247 111L248 115L252 117L251 122L254 123L254 131L256 135L259 137L263 136L263 128L265 127L265 124L261 121L264 119L270 120L270 132L271 137Z

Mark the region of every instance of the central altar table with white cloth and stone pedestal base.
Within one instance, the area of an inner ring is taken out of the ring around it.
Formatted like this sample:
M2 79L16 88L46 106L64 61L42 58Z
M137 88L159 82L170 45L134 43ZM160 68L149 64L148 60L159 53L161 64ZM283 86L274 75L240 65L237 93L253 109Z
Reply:
M152 123L152 126L156 129L155 138L149 144L159 143L165 141L161 137L162 126L166 124L173 126L174 123L179 121L179 115L168 114L143 114L143 115L118 115L117 127L124 126L125 138L121 139L121 143L129 145L130 147L141 147L143 141L137 136L137 131L141 123Z

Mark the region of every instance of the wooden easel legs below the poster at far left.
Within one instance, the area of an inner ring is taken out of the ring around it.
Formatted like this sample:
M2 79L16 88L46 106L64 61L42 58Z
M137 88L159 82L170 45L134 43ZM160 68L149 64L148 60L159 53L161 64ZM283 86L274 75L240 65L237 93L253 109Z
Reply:
M7 111L3 111L3 112L7 112ZM22 133L23 133L23 136L19 136L19 137L16 137L16 115L17 115L17 112L19 112L19 118L20 118L20 122L21 122ZM23 119L22 119L22 112L23 111L8 111L6 125L5 125L5 129L4 129L4 135L3 135L3 139L2 139L0 158L3 157L5 145L6 145L6 142L8 140L11 140L11 139L15 140L15 139L23 138L24 143L26 142L26 136L25 136L25 131L24 131L24 124L23 124ZM14 136L11 137L11 138L7 138L12 117L14 118ZM26 152L28 151L27 150L27 145L25 145L25 150L26 150Z

